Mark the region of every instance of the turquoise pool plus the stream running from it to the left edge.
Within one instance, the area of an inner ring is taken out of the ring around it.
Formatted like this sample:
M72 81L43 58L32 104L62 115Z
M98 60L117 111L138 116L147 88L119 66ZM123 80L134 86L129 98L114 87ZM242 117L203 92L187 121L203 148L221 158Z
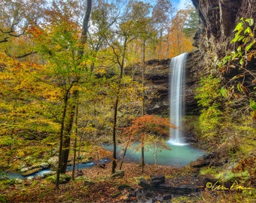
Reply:
M157 165L170 165L174 167L182 167L190 162L196 161L198 158L203 156L205 153L203 150L198 150L195 147L191 147L190 145L178 146L170 143L166 143L166 145L171 149L167 150L164 148L155 148L155 147L145 147L145 164L155 164L157 161ZM113 150L112 144L104 144L102 147L105 150ZM126 156L124 158L124 162L141 162L141 150L138 149L138 144L133 144L132 147L127 149ZM117 145L117 159L120 160L123 156L123 147ZM108 158L102 159L100 163L110 162ZM96 162L86 162L78 165L79 169L91 168L96 165ZM77 169L77 166L75 167ZM27 177L36 177L38 175L43 176L45 173L50 172L50 168L46 168L42 171L38 171L35 174L30 174L28 176L23 176L20 173L6 172L5 176L11 179L24 179ZM68 165L67 171L72 171L72 165ZM0 174L0 178L3 175Z

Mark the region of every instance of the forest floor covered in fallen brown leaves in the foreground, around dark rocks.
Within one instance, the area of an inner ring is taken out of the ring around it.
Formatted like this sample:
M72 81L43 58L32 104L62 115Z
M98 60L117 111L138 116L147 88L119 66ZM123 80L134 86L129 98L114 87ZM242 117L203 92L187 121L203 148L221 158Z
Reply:
M142 173L141 166L134 163L124 163L123 178L111 177L111 163L105 168L95 166L83 170L83 178L77 177L69 183L61 184L55 189L54 183L47 178L24 180L22 183L1 185L0 202L131 202L129 189L120 189L128 185L133 190L140 189L139 180L149 179L151 175L163 174L166 183L178 187L201 187L203 191L190 195L172 195L169 201L153 202L255 202L248 201L241 191L212 191L206 188L206 177L199 174L198 168L190 166L174 168L163 165L145 165ZM70 174L70 173L68 173ZM84 178L93 181L84 185ZM134 197L132 202L147 202ZM150 201L148 201L150 202ZM152 202L152 201L151 201Z

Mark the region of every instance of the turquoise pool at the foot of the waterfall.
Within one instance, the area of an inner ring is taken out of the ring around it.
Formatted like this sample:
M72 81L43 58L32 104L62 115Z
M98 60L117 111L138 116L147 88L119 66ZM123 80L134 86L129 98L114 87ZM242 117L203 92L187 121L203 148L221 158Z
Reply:
M190 162L196 161L203 156L205 152L198 150L190 145L173 145L166 143L171 150L159 148L157 150L157 164L158 165L170 165L175 167L182 167ZM106 150L113 150L112 145L103 145ZM145 164L155 163L155 149L152 147L145 147ZM123 147L117 146L117 159L120 159L123 155ZM134 144L130 149L126 151L125 162L137 162L141 161L141 150L138 150L138 144Z

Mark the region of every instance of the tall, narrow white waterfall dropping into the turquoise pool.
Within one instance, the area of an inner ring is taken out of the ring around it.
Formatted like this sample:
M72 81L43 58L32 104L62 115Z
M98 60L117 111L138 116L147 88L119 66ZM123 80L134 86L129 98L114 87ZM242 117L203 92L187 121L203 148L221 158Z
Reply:
M181 116L184 115L184 102L182 102L182 96L184 95L186 60L187 53L182 53L181 55L172 58L169 70L170 120L178 127L178 129L170 129L169 142L175 145L186 145L183 136L184 125L181 120Z

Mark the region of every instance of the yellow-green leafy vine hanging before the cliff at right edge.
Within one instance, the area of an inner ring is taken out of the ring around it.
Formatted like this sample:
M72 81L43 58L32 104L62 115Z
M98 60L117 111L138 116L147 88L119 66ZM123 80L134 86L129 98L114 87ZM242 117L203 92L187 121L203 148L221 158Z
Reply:
M234 38L230 41L230 44L236 45L236 49L231 51L227 56L221 59L218 63L218 67L221 73L229 74L232 69L236 73L226 85L221 88L221 95L228 99L240 100L241 98L247 98L248 107L251 109L251 116L253 120L256 120L256 108L255 108L255 89L256 89L256 73L255 71L247 68L248 62L256 58L256 50L254 45L256 39L254 35L254 20L251 18L241 18L240 22L233 30L235 32ZM232 75L232 74L231 74Z

